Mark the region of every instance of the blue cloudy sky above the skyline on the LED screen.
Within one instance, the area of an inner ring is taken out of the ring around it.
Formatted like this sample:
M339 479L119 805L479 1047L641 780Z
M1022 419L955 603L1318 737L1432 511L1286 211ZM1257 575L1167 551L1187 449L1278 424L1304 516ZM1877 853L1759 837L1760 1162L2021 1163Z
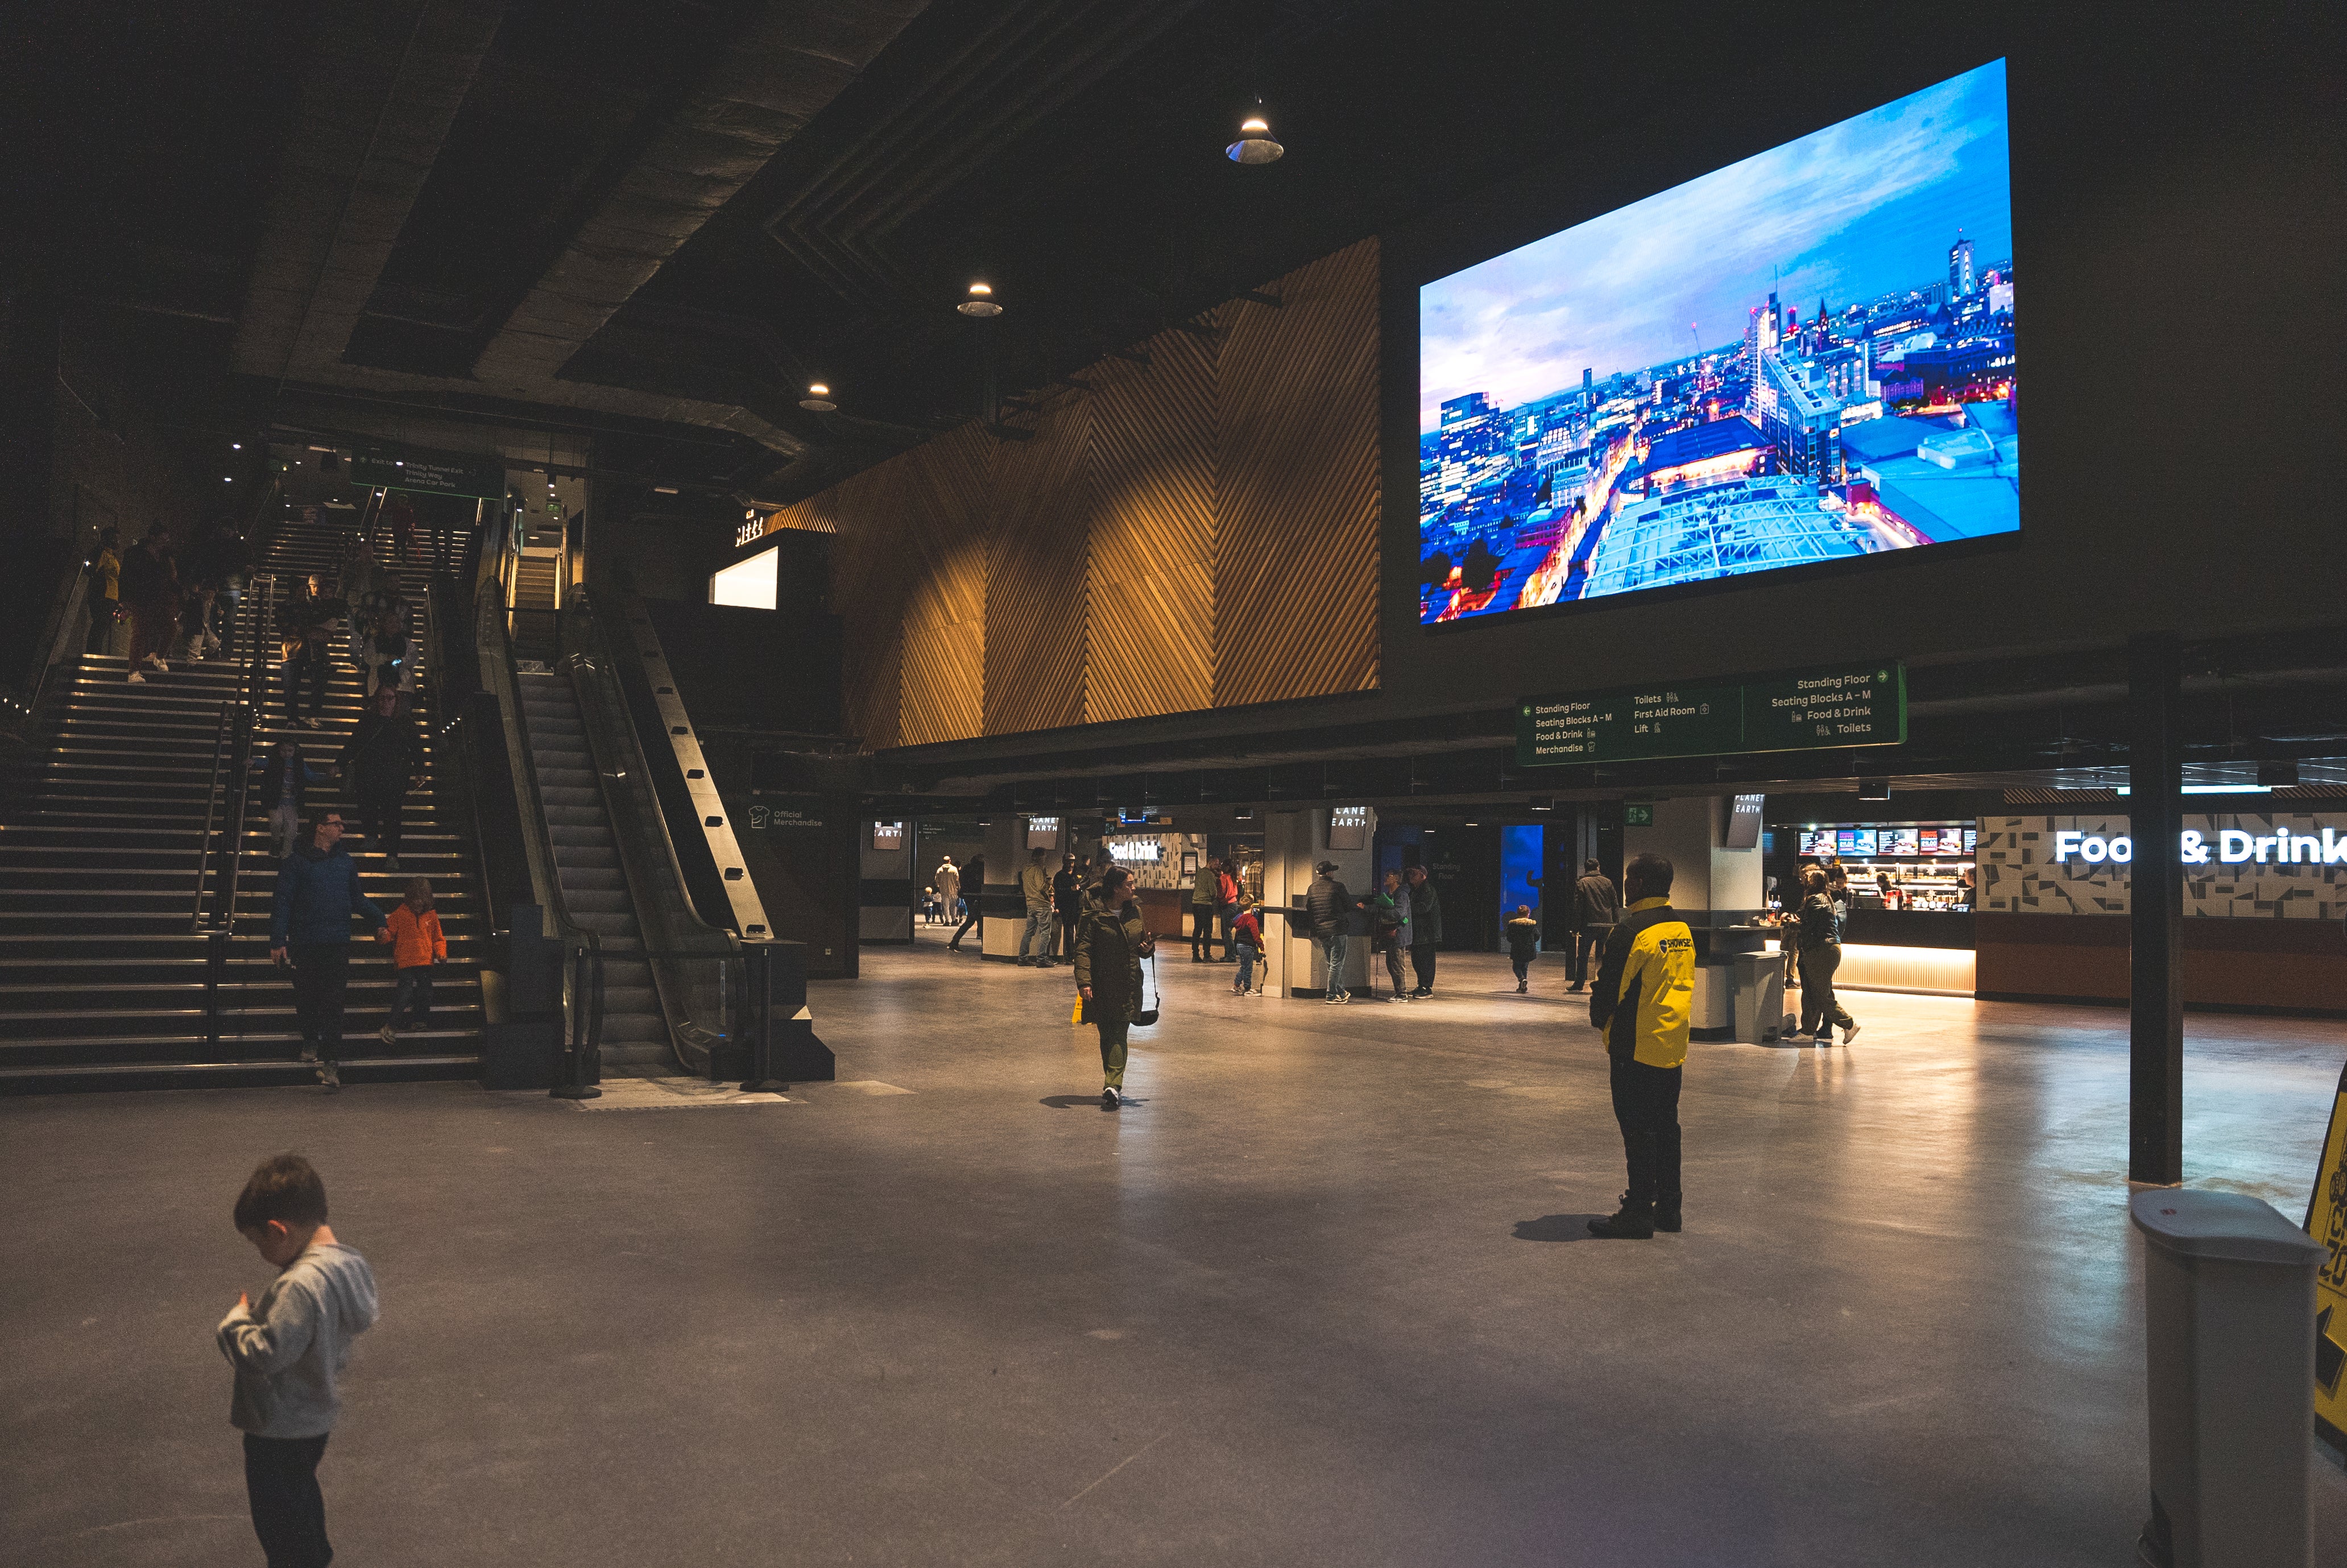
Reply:
M1770 289L1807 319L1946 282L1957 230L2011 256L2004 61L1425 284L1418 427L1737 343Z

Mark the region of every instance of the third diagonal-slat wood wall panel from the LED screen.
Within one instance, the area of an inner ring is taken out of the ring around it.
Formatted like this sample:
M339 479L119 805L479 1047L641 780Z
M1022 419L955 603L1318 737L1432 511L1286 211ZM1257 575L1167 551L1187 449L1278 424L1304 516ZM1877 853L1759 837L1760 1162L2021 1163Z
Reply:
M1063 397L995 451L986 521L988 735L1084 721L1091 413Z

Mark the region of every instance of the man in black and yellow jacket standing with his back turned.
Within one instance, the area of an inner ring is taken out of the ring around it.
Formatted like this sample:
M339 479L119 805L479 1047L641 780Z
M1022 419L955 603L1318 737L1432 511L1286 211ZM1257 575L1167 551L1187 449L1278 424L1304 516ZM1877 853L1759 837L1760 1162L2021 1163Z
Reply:
M1605 939L1589 988L1589 1023L1605 1030L1615 1120L1629 1157L1622 1211L1589 1221L1601 1237L1645 1242L1678 1230L1678 1075L1695 1005L1695 932L1671 908L1671 861L1641 854L1622 869L1629 908Z

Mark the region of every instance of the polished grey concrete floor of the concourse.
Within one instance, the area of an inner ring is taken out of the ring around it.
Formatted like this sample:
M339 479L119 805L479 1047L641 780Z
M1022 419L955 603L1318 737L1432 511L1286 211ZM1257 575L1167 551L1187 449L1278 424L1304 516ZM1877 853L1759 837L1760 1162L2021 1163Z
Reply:
M2131 1561L2117 1012L1699 1045L1687 1230L1629 1244L1554 965L1342 1012L1164 965L1120 1115L1066 969L864 965L812 998L854 1082L789 1103L0 1103L0 1561L258 1561L211 1324L279 1148L383 1284L347 1563ZM2190 1035L2194 1183L2298 1218L2347 1026ZM2328 1458L2314 1514L2347 1561Z

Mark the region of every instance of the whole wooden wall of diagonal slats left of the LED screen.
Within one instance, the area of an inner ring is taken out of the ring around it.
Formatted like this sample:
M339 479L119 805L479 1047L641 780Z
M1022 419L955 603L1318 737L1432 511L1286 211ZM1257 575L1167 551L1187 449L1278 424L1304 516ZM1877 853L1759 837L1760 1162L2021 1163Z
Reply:
M1378 242L777 512L838 533L866 749L1378 683Z

